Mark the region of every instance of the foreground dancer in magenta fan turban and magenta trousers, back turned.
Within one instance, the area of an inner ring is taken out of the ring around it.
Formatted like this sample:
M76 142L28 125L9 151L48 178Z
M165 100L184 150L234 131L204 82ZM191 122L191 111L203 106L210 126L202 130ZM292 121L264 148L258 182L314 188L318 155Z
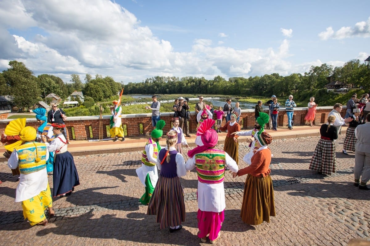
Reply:
M198 237L203 243L207 235L211 243L220 237L226 207L223 187L225 168L238 171L238 165L228 153L214 148L218 142L217 132L211 129L214 123L214 120L206 119L201 124L203 146L190 150L190 158L186 162L186 170L196 167L198 173Z

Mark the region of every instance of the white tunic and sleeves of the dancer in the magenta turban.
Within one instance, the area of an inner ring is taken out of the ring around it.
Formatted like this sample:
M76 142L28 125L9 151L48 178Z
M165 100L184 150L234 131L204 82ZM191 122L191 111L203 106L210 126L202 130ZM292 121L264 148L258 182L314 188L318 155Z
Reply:
M225 152L226 166L233 172L238 172L238 164ZM186 161L186 170L195 167L195 155ZM205 184L198 181L198 208L201 211L222 212L226 208L225 189L223 182L218 184Z

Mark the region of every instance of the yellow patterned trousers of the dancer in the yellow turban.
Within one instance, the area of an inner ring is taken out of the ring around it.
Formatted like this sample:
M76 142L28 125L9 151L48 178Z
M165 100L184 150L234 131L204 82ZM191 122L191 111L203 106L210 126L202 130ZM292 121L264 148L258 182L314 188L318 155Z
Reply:
M45 209L53 205L53 200L51 199L49 183L44 191L40 194L34 196L33 198L22 201L23 217L28 219L31 226L42 222L45 216Z

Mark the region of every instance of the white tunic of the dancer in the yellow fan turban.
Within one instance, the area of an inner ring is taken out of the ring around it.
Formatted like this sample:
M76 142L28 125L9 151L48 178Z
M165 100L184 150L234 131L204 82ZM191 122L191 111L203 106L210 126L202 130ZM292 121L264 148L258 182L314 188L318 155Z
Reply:
M49 151L46 150L46 160L49 158ZM8 166L11 169L16 169L18 167L18 153L14 149L11 153ZM19 184L16 189L16 202L21 202L27 199L30 199L38 194L41 191L46 190L47 188L47 172L46 166L43 170L32 172L30 174L20 174Z

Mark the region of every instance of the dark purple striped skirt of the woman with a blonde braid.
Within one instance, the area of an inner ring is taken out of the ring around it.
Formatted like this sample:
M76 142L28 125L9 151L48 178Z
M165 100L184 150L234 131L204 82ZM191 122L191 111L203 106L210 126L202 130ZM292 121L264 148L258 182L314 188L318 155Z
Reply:
M179 177L159 176L147 214L157 215L157 223L161 229L181 225L185 221L184 190Z

